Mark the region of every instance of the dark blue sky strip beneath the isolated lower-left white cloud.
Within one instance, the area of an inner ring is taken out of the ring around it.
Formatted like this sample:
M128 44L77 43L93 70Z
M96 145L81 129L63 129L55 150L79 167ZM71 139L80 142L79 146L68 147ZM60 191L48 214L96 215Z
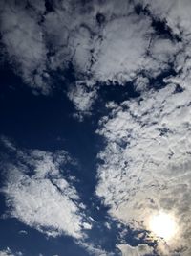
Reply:
M9 246L12 251L21 251L24 255L29 256L38 256L39 253L46 256L56 254L67 256L89 255L82 247L75 244L70 237L47 237L16 219L0 220L0 225L0 249ZM27 231L27 234L19 233L21 230Z

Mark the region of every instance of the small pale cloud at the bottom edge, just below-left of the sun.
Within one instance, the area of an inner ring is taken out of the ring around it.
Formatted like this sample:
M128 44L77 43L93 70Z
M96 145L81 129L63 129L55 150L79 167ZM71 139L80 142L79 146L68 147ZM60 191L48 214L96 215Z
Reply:
M117 247L122 252L122 256L146 256L152 255L153 248L147 244L138 244L136 247L132 247L128 244L118 244Z

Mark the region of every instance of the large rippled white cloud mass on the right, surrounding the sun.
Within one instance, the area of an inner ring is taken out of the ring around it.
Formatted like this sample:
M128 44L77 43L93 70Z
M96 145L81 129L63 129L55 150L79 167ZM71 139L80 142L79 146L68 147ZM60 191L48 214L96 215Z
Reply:
M179 232L161 255L189 255L190 249L190 86L168 81L160 90L120 105L110 104L97 132L106 147L99 153L97 196L110 214L138 230L149 229L149 216L160 209L175 217ZM179 196L178 196L179 195ZM167 252L166 252L167 250Z

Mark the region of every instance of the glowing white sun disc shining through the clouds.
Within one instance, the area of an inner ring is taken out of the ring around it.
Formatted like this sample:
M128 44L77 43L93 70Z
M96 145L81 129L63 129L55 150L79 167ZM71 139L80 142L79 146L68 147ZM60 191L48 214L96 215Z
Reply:
M151 217L150 230L158 237L170 240L177 232L177 225L174 218L166 213L160 212Z

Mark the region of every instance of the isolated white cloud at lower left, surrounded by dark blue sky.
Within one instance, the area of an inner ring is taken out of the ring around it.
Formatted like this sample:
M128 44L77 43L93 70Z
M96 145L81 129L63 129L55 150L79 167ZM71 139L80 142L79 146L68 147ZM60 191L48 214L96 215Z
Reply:
M50 236L66 234L82 239L83 230L90 229L91 224L84 221L85 206L70 178L67 180L66 165L70 161L65 151L17 149L15 159L3 166L7 174L2 189L7 198L7 217Z

